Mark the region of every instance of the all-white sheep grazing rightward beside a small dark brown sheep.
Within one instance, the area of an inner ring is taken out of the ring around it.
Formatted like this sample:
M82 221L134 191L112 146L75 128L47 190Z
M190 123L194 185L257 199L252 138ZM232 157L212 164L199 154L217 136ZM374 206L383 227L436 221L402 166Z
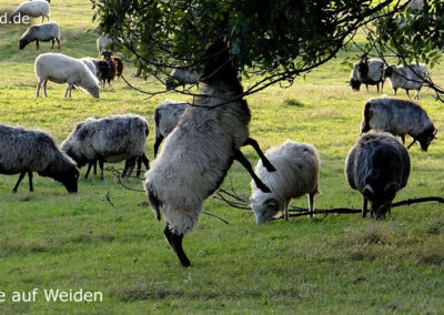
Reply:
M36 58L36 75L39 79L36 98L39 98L40 88L43 83L43 92L47 98L48 80L56 83L68 83L64 96L68 91L71 98L72 87L80 87L93 98L99 99L99 81L91 73L88 67L80 60L61 53L42 53Z

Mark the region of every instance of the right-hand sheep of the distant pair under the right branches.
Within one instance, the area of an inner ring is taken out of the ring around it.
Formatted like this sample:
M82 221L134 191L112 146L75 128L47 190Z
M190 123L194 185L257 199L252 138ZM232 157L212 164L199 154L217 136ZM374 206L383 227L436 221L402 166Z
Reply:
M414 99L420 99L420 90L424 84L424 80L428 77L428 71L425 64L412 63L407 67L391 65L384 70L385 78L390 79L394 94L396 95L397 89L404 89L410 98L410 90L416 90Z

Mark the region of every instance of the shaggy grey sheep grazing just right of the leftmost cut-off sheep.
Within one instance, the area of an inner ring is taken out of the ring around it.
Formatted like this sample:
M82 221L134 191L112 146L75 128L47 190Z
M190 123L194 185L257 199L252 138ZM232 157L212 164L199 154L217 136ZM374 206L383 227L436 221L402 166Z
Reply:
M147 120L137 114L111 115L103 119L89 118L77 124L62 150L79 165L89 164L87 177L94 161L99 161L101 180L103 163L125 163L122 176L131 174L138 159L149 169L144 154L148 136Z

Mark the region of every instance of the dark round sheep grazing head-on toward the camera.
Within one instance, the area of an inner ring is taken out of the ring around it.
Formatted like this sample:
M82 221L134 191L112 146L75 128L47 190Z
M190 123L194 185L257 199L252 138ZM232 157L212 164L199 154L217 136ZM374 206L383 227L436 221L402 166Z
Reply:
M356 141L345 161L345 176L364 197L362 217L369 201L372 217L375 213L382 220L390 213L397 191L407 184L410 167L408 151L392 134L367 133Z

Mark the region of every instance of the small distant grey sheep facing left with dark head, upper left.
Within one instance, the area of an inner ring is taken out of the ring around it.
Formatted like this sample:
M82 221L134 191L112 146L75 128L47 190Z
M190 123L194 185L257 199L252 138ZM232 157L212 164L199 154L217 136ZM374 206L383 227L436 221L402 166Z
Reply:
M57 40L57 44L60 49L60 40L59 40L59 24L57 22L50 22L40 26L30 27L24 34L21 37L19 42L19 48L23 49L30 42L36 41L36 50L38 50L39 41L52 41L51 49L54 48L54 42Z

